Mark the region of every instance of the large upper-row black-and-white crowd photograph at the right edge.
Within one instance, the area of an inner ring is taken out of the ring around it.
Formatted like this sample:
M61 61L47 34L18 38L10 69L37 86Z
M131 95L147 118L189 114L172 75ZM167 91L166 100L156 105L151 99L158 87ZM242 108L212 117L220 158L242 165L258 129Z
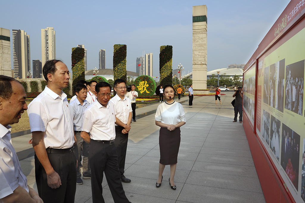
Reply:
M303 116L304 60L286 66L285 109Z

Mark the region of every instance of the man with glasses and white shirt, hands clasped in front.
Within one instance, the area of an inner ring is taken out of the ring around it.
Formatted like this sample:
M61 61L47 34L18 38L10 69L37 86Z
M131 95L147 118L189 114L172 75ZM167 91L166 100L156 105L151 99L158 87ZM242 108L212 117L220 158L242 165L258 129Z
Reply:
M117 92L110 102L114 104L117 120L115 122L116 138L114 145L117 148L118 165L121 173L121 180L124 183L130 183L131 180L124 176L126 150L128 142L128 132L132 117L131 100L125 96L126 82L123 79L114 81L114 90Z

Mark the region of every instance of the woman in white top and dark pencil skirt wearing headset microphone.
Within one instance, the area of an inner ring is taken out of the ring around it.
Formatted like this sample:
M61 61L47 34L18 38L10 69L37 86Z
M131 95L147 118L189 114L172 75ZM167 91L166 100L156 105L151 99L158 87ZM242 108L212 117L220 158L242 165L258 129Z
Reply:
M166 101L158 106L155 115L156 125L161 127L159 135L159 177L156 187L161 186L163 179L162 173L165 165L170 165L170 178L168 180L170 182L171 189L176 190L174 176L180 146L180 127L185 124L186 118L182 105L174 101L173 86L164 86L163 95Z

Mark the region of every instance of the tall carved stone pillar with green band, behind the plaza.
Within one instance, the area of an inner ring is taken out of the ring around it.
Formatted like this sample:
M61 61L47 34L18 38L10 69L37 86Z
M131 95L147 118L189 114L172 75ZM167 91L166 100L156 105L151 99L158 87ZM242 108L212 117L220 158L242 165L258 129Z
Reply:
M193 6L193 89L194 94L208 94L206 90L207 8ZM202 90L205 89L205 90Z

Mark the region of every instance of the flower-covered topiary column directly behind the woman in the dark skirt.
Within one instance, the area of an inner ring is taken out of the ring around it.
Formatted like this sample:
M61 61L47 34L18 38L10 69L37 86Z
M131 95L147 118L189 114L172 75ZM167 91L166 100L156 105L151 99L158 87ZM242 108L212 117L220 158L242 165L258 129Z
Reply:
M162 86L173 82L172 57L173 46L160 47L160 85Z

